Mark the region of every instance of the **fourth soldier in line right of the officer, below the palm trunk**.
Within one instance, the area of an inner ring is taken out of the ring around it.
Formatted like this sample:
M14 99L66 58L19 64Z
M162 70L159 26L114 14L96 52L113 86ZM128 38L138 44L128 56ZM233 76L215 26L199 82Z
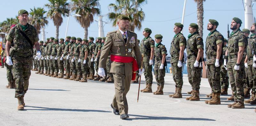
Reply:
M192 87L191 96L186 98L189 101L199 101L199 89L201 83L202 73L202 58L204 56L204 43L203 39L197 32L198 25L191 23L188 27L189 35L187 41L187 70L188 82Z

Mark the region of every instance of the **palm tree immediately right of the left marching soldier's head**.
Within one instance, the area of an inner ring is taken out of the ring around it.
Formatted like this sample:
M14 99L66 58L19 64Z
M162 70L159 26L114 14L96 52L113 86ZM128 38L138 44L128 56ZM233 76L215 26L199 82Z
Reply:
M46 11L44 11L44 8L35 8L30 9L31 12L29 12L29 23L33 25L36 28L36 31L38 34L40 34L40 30L42 27L48 24L48 20L46 20L46 17L44 17L44 14Z

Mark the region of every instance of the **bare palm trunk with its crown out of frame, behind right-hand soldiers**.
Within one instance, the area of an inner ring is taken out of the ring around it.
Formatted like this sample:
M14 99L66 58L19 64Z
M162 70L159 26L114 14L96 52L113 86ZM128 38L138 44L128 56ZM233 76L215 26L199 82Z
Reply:
M198 31L200 37L203 37L203 19L204 19L204 6L203 2L205 0L194 0L197 4L197 24L198 24Z

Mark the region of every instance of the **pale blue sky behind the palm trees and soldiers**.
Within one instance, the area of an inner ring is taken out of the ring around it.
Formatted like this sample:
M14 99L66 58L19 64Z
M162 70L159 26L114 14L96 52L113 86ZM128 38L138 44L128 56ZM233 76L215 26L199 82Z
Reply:
M18 15L20 9L26 9L28 12L30 8L44 7L44 4L49 3L47 0L1 0L1 18L0 22L4 21L6 18L15 17ZM106 15L110 10L108 5L110 3L115 3L115 0L100 0L101 15ZM154 39L156 34L163 35L163 44L168 50L170 50L172 37L174 36L173 26L175 22L181 22L181 16L183 11L184 0L148 0L148 4L142 6L145 12L145 20L142 22L142 28L140 30L136 29L135 33L138 35L138 39L143 39L144 36L142 32L144 28L150 28L152 30L151 37ZM254 5L252 8L255 9ZM47 10L47 8L44 8ZM187 38L188 26L190 23L196 23L196 3L194 0L187 0L185 19L184 19L184 30L183 34ZM253 10L255 12L255 10ZM243 21L241 29L244 28L244 7L241 0L206 0L204 2L204 34L203 40L205 45L206 36L209 31L206 29L209 19L215 19L219 22L217 30L227 38L227 25L233 17L238 17ZM97 20L98 16L94 17ZM49 20L48 26L46 26L45 31L47 37L55 37L55 26L52 20ZM67 27L68 18L63 18L63 23L60 26L59 38L65 37L65 31ZM117 27L112 27L112 23L108 20L108 17L103 17L103 21L108 22L105 25L104 31L105 35L109 31L116 30ZM88 28L88 36L97 37L98 36L98 26L97 22L94 21ZM231 30L230 30L231 33ZM74 17L70 17L68 26L68 36L84 37L84 29L75 20ZM41 40L41 35L39 35Z

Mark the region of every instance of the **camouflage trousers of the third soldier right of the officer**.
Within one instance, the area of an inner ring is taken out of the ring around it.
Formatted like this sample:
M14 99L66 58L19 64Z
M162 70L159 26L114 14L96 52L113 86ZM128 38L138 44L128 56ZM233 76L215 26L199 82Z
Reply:
M183 86L182 67L178 67L178 62L172 63L172 78L175 82L175 87L182 88Z

